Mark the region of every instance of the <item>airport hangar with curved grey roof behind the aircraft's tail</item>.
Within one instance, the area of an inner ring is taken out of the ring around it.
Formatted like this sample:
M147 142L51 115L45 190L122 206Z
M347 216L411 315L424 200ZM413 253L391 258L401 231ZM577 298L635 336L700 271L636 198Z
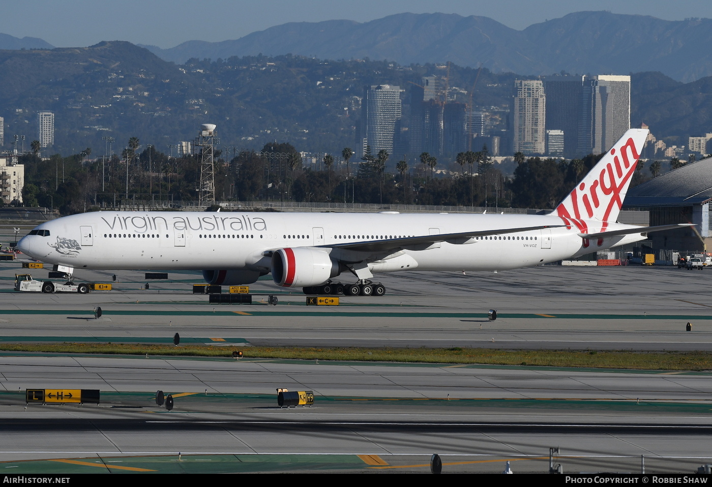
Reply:
M630 188L623 202L627 210L648 210L649 225L694 223L679 230L649 235L654 249L707 251L712 249L712 157L686 164Z

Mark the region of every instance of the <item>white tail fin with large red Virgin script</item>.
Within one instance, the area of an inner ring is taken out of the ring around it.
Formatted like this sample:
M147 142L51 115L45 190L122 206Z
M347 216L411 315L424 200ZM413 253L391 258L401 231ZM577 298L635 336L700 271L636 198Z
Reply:
M605 231L618 218L647 135L646 129L629 129L551 214L582 233L588 232L585 220L600 220L598 231Z

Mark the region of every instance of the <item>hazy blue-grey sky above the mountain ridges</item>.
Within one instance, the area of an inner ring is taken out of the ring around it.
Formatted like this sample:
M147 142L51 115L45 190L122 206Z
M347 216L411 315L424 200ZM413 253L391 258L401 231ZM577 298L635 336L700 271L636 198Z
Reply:
M0 33L38 37L56 47L130 41L171 48L184 41L225 41L286 22L370 21L434 11L493 18L523 29L586 10L665 20L712 18L710 0L0 0Z

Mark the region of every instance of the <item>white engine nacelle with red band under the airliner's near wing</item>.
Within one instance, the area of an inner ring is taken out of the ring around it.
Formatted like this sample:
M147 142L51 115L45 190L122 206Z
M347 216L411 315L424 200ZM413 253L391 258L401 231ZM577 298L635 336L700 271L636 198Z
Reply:
M323 250L296 247L272 254L272 279L278 286L318 286L337 275L339 264Z

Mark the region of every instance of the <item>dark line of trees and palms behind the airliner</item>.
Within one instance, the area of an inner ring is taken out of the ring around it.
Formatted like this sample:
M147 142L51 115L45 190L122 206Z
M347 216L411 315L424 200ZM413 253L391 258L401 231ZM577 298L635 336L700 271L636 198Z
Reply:
M142 147L142 150L139 149ZM23 205L44 206L62 214L81 213L117 204L156 202L180 204L197 200L200 156L172 157L152 144L142 146L131 137L121 154L98 156L86 148L78 154L41 158L39 143L19 156L25 165ZM300 152L289 143L266 144L261 151L243 150L225 159L214 151L215 198L225 201L300 201L308 203L379 203L481 206L490 208L554 208L580 181L600 156L583 159L525 157L515 154L513 175L506 176L486 146L457 154L454 164L439 164L423 152L419 164L380 150L354 161L355 151L324 154L305 166ZM670 168L689 161L672 159ZM661 173L654 161L649 171L639 161L636 186ZM649 172L648 175L646 172Z

